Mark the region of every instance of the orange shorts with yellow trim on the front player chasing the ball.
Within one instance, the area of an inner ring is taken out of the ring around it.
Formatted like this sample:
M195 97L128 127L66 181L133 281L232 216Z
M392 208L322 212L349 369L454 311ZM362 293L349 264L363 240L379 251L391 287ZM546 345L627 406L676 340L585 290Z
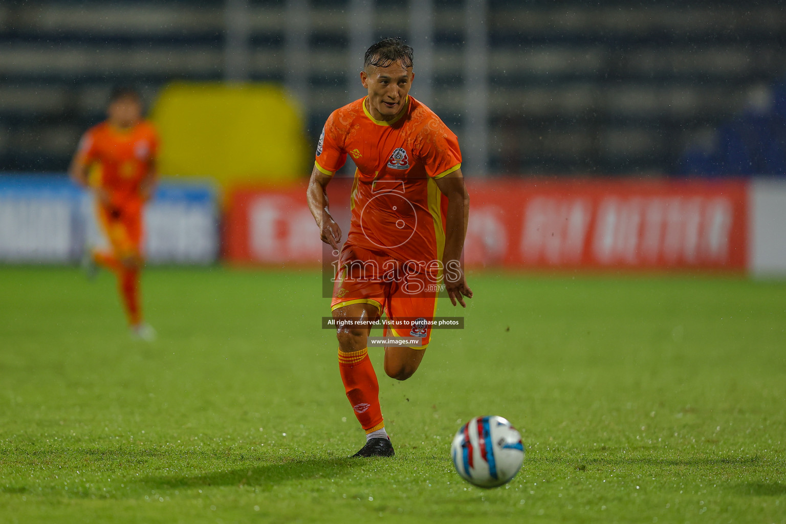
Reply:
M398 270L397 270L398 269ZM383 336L419 337L426 349L431 340L430 322L439 295L439 275L427 277L417 271L417 265L409 268L383 253L345 244L339 258L333 282L333 298L330 310L351 304L371 304L388 321L401 323L405 327L384 327Z

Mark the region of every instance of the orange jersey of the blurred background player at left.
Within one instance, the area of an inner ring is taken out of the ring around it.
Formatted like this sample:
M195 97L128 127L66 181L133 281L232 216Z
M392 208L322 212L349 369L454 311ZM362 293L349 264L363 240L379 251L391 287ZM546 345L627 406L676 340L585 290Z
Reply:
M78 152L82 163L97 166L97 179L91 185L105 189L116 203L139 200L157 153L158 134L144 120L130 130L100 123L84 134Z

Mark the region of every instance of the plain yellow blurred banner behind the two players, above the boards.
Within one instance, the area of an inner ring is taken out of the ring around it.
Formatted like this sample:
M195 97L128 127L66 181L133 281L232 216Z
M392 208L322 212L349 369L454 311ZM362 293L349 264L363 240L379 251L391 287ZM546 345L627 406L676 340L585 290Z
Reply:
M224 187L310 174L303 115L281 86L175 82L151 119L161 136L161 174L211 177Z

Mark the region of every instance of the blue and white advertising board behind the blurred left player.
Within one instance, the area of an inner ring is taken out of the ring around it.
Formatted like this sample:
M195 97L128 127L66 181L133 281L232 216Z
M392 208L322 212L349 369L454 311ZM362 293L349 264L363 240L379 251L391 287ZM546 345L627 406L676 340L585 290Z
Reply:
M218 216L212 185L163 179L145 208L145 258L215 262ZM93 196L64 174L0 175L0 262L73 263L100 244Z

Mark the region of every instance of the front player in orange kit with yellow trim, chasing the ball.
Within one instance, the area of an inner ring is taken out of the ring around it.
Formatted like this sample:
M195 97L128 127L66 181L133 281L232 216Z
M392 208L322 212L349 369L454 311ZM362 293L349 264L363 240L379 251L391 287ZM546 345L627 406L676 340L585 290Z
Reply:
M317 146L307 190L321 240L339 251L326 187L347 154L354 159L351 225L340 250L331 302L336 321L409 321L384 335L408 345L385 347L387 376L406 380L431 338L439 285L450 302L472 298L461 265L469 196L456 135L431 109L409 96L413 49L398 38L365 53L360 74L368 96L336 109ZM347 398L366 433L354 456L393 456L384 428L379 384L367 351L370 328L339 327L339 369ZM415 343L417 341L417 343Z

